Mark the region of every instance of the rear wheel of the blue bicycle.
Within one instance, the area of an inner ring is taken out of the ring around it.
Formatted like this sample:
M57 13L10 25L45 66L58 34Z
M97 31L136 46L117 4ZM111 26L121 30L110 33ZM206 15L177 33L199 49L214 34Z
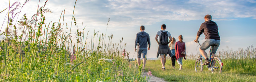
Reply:
M211 72L221 73L222 72L222 62L219 58L215 57L212 59L210 64Z

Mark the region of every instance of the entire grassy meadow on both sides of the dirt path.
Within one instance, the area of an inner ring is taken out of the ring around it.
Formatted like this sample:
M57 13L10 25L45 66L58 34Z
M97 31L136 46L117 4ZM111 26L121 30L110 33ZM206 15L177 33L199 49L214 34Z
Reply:
M78 27L74 10L71 23L66 23L65 10L59 21L45 19L45 13L52 13L44 6L39 7L32 17L19 12L25 3L10 3L6 28L0 33L0 82L147 82L142 66L129 60L130 52L125 51L126 43L112 41L113 35L94 31L89 34L86 26ZM16 20L21 18L20 20ZM46 22L51 21L51 22ZM17 22L17 23L16 23ZM3 24L3 25L5 25ZM81 25L80 25L81 26ZM78 29L78 28L82 28ZM71 32L76 29L76 32ZM89 39L90 38L90 39ZM124 37L125 38L125 37ZM166 71L161 70L160 60L148 60L146 71L164 78L165 81L255 81L256 49L253 46L238 51L220 51L224 63L223 73L212 74L204 67L203 72L194 71L196 55L188 55L182 71L171 68L166 63ZM133 52L131 52L132 54ZM132 54L133 55L133 54Z

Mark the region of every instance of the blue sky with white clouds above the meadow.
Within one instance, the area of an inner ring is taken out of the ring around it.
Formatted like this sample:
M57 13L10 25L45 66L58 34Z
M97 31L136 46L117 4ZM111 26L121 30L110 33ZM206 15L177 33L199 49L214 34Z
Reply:
M16 1L22 5L25 2L11 0L11 5ZM8 8L9 0L0 2L4 3L0 5L0 11ZM46 0L28 1L22 9L18 9L21 10L18 19L21 19L24 13L31 18L37 12L37 6L41 7L45 2ZM75 0L48 0L45 8L53 13L44 14L46 23L58 22L61 12L65 9L64 23L70 27L74 4ZM6 28L7 12L5 10L0 13L0 24L3 23L1 33ZM78 27L72 26L71 32L76 32L77 28L82 30L82 27L86 26L85 31L92 35L94 30L105 33L108 27L107 35L113 34L113 42L118 43L124 37L123 43L127 43L125 49L131 52L130 57L133 56L135 36L140 32L141 25L145 26L151 40L147 57L156 57L158 45L154 38L157 31L161 30L162 24L166 24L166 31L176 40L182 34L187 53L196 54L198 44L193 40L206 14L212 15L212 20L219 27L221 43L218 51L245 49L256 45L255 0L77 0L74 14ZM107 26L108 18L110 21ZM199 41L205 41L203 34Z

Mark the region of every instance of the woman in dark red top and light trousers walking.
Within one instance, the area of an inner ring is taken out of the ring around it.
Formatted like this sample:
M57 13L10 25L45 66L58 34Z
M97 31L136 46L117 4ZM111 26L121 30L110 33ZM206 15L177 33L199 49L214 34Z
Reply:
M177 60L177 63L180 65L180 69L179 70L182 70L182 59L185 58L186 56L186 46L185 46L185 42L183 42L183 36L180 35L179 36L179 41L176 42L175 44L175 56L176 56L176 60Z

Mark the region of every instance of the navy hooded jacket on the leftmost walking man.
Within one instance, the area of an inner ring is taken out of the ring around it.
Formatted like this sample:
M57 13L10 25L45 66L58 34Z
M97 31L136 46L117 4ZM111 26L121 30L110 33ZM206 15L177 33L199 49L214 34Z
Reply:
M145 31L138 32L136 34L136 39L135 39L135 48L138 45L138 48L147 48L148 44L150 48L150 39L149 39L149 34Z

